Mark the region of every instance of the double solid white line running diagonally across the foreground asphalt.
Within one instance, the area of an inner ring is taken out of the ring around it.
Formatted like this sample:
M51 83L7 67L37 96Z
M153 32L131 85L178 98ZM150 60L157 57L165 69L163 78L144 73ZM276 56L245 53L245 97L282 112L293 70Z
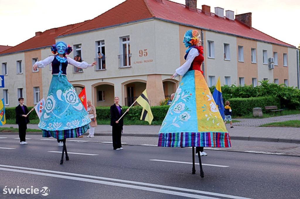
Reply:
M8 166L8 165L0 165L0 166L8 167L8 168L15 168L15 169L0 168L0 170L5 170L5 171L45 175L45 176L51 176L51 177L60 177L60 178L66 178L66 179L72 179L72 180L80 180L80 181L87 181L88 180L88 182L103 183L103 184L114 185L114 186L123 186L123 187L134 188L134 189L142 189L142 190L147 190L147 191L157 192L156 190L158 190L159 192L161 192L161 191L165 191L165 190L159 190L159 189L153 189L153 188L141 187L141 186L132 187L133 185L126 185L126 184L121 184L121 183L112 184L111 182L105 182L105 181L100 181L100 180L91 181L90 179L85 179L85 178L79 178L79 177L71 178L70 176L55 175L55 174L65 174L65 175L74 175L74 176L80 176L80 177L90 177L90 178L95 178L95 179L110 180L110 181L117 181L117 182L124 182L124 183L131 183L131 184L138 184L138 185L145 185L145 186L154 186L154 187L165 188L165 189L175 189L177 191L180 190L180 191L184 191L184 192L193 192L193 193L200 193L200 194L205 194L205 195L214 195L214 196L226 197L226 198L249 199L249 198L243 198L243 197L238 197L238 196L233 196L233 195L219 194L219 193L214 193L214 192L205 192L205 191L199 191L199 190L194 190L194 189L185 189L185 188L181 188L181 187L164 186L164 185L159 185L159 184L150 184L150 183L143 183L143 182L136 182L136 181L129 181L129 180L120 180L120 179L107 178L107 177L99 177L99 176L91 176L91 175L83 175L83 174L74 174L74 173L59 172L59 171L50 171L50 170L44 170L44 169L33 169L33 168L26 168L26 167L19 167L19 166ZM41 172L48 172L48 173L30 172L30 171L16 170L16 169L27 169L27 170L41 171ZM55 173L55 174L49 174L49 173ZM149 189L152 189L152 190L149 190ZM161 193L166 193L166 192L161 192ZM174 193L180 193L180 192L171 192L170 194L174 195ZM184 194L184 193L180 193L180 194ZM177 194L175 194L175 195L177 195ZM194 196L196 196L197 198L201 197L202 199L215 199L215 198L212 198L212 197L199 196L199 195L192 195L192 196L184 195L184 196L185 197L192 197L192 198L195 198Z

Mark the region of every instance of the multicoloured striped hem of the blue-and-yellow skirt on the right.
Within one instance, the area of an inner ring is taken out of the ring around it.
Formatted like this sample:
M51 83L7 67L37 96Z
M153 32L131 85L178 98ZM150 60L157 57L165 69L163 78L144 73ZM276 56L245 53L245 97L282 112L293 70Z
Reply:
M227 132L177 132L158 135L158 146L164 147L231 147Z

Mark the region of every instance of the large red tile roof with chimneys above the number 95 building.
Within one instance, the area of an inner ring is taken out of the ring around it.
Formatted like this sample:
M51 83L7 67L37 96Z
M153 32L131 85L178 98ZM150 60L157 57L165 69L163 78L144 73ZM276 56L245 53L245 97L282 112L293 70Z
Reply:
M229 21L225 17L220 19L214 16L214 13L208 16L199 9L197 12L193 12L185 8L183 4L168 0L163 0L163 3L159 3L156 0L126 0L96 18L61 35L81 33L149 18L162 19L200 29L294 47L255 28L249 28L238 20Z

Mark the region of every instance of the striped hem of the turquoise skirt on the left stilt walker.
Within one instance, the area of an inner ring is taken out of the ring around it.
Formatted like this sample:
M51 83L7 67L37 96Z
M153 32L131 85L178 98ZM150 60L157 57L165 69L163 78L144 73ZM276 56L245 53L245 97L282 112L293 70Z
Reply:
M43 137L54 137L58 140L62 140L65 138L74 138L79 137L80 135L84 134L88 129L89 125L86 124L81 127L66 129L66 130L58 130L58 131L47 131L42 129Z

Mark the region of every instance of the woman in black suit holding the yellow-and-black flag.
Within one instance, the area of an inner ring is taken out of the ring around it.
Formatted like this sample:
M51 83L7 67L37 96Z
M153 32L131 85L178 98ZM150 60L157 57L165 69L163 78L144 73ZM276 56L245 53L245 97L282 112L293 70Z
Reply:
M113 149L121 150L121 136L123 129L123 115L122 106L119 105L119 97L115 97L115 104L110 107L110 125L113 127ZM129 109L126 110L126 114L128 114ZM119 120L120 119L120 120ZM118 121L119 120L119 121Z

